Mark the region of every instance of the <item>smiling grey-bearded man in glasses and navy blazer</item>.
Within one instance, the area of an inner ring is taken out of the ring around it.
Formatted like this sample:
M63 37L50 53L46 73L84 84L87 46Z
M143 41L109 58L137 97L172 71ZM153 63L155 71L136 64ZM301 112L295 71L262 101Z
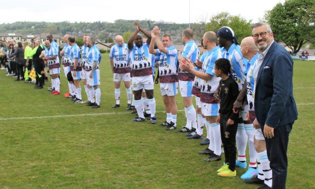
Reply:
M261 64L256 73L256 119L266 139L272 169L272 188L285 188L289 133L297 119L292 94L293 61L290 54L273 40L268 24L254 24L252 33L260 50L258 64Z

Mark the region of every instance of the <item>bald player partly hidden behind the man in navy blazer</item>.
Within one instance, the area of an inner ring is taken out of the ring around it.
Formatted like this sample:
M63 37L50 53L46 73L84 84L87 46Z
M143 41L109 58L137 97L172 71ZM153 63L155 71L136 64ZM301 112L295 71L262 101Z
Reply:
M246 37L241 42L241 52L244 58L249 60L249 69L246 75L246 80L243 88L237 99L243 99L247 96L247 101L249 104L249 112L247 113L248 121L252 125L253 134L248 135L249 143L253 142L255 145L255 150L257 152L257 164L258 170L252 167L248 167L248 170L241 176L245 179L246 183L258 183L266 184L269 187L272 186L272 170L270 169L270 161L267 157L265 138L260 128L260 125L255 120L255 110L254 110L254 91L256 84L256 77L261 64L258 64L258 53L259 49L255 45L253 37ZM234 108L242 107L242 103L235 101ZM255 124L256 121L256 124ZM253 126L255 125L255 128ZM255 152L255 153L256 153ZM251 153L251 152L250 152ZM257 177L253 177L257 175Z

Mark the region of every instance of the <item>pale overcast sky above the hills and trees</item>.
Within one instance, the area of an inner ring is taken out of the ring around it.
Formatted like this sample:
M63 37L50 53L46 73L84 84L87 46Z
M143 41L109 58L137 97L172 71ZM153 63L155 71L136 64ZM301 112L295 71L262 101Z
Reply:
M11 0L7 2L9 6L0 7L0 24L17 21L114 22L118 19L195 23L208 21L221 12L228 12L255 23L264 17L265 11L283 2L284 0Z

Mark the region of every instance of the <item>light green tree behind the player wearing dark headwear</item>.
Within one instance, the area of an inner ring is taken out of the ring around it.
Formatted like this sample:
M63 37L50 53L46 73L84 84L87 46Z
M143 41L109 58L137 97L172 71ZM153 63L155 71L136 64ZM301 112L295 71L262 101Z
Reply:
M240 16L231 16L227 12L222 12L210 19L210 22L205 26L205 31L215 31L228 26L232 28L240 43L245 37L252 35L251 22L251 20L246 21Z

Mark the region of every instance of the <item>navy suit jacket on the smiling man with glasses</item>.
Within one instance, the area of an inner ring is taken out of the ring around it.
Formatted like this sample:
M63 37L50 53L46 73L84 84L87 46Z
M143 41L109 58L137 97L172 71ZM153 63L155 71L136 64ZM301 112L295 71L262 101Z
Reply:
M261 126L276 128L297 119L292 76L290 54L274 41L260 66L255 87L255 114Z

